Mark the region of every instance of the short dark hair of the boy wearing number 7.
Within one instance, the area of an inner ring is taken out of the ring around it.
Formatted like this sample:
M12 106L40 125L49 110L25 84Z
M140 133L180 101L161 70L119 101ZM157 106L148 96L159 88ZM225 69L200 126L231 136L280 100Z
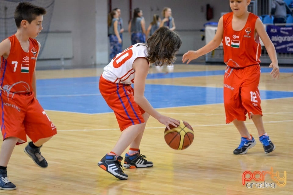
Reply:
M36 19L37 16L45 15L46 10L42 7L35 6L29 2L20 2L14 12L14 20L16 27L20 27L22 20L27 20L30 24L31 21Z

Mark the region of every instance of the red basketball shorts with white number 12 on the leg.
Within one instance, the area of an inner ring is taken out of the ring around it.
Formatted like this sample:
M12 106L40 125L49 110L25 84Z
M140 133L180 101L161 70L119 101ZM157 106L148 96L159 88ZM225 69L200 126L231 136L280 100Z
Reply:
M262 115L259 95L260 66L253 65L245 68L227 66L224 75L224 106L226 123L234 119L245 121L246 113Z

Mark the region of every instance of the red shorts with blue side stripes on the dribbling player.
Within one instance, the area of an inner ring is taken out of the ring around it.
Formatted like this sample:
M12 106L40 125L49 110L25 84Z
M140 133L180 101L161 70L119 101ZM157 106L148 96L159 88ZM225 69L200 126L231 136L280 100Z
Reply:
M142 116L145 111L134 101L134 91L131 85L112 83L101 76L99 90L114 111L121 131L131 125L145 122Z

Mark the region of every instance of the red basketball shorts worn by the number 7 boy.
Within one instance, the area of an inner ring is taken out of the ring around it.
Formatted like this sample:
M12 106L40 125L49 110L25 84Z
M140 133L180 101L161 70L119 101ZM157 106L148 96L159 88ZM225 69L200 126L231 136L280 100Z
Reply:
M7 137L18 137L17 144L33 142L51 137L57 133L34 93L8 94L1 90L0 125L3 140Z

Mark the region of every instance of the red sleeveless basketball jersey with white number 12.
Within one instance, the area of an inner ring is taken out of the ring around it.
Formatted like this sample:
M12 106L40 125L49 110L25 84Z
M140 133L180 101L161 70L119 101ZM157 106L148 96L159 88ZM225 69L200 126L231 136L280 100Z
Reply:
M259 36L254 38L255 22L258 16L249 13L244 28L240 31L232 28L233 12L223 15L224 62L230 67L246 67L259 64L261 45Z

